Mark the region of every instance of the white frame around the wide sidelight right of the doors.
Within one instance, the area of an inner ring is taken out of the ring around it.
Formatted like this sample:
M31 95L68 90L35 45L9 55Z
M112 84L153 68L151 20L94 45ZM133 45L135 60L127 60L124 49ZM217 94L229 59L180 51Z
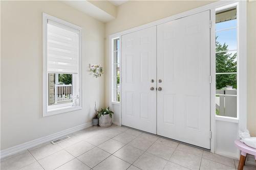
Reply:
M237 117L215 115L215 119L238 123L240 129L246 129L246 2L227 2L215 9L219 11L231 7L237 7Z

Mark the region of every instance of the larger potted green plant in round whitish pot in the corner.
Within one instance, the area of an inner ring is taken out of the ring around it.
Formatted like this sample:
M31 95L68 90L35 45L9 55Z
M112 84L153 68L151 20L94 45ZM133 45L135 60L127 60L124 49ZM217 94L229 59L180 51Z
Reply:
M110 107L98 111L99 126L104 128L110 127L112 125L113 114L114 112L110 110Z

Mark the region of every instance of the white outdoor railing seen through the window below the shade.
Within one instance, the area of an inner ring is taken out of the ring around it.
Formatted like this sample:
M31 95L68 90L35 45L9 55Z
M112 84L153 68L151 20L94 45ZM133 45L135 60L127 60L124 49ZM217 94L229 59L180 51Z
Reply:
M72 84L56 84L55 91L55 104L72 101Z

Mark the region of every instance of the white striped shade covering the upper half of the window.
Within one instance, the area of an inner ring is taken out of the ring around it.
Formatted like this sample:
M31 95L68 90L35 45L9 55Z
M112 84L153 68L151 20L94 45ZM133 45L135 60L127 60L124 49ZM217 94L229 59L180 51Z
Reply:
M51 19L47 20L48 72L77 74L80 31Z

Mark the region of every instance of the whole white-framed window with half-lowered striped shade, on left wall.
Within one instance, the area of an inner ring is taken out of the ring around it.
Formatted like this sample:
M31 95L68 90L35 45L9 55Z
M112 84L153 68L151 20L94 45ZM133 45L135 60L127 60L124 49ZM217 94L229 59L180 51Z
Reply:
M81 109L81 28L43 14L44 116Z

